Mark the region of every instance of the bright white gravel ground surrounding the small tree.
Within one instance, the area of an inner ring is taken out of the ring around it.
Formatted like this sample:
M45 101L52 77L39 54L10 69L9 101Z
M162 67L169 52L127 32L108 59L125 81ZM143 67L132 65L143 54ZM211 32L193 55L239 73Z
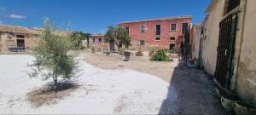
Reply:
M56 104L33 107L26 94L49 81L28 77L27 64L32 60L31 55L0 55L0 114L157 114L167 98L169 83L160 78L131 70L103 70L83 61L84 73L76 78L81 88ZM176 90L169 89L169 94L174 103Z

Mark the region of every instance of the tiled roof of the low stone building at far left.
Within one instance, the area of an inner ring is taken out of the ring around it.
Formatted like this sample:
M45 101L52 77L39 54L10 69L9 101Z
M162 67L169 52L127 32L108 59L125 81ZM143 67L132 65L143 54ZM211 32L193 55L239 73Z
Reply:
M14 32L22 34L38 34L37 31L21 26L0 25L0 32Z

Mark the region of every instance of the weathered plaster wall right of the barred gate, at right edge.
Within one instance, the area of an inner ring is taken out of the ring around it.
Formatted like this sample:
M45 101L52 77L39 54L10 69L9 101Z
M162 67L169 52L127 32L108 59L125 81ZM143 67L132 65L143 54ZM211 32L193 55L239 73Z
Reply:
M244 0L242 1L245 2ZM247 0L236 91L241 100L256 106L256 0ZM243 16L243 15L241 15ZM241 22L241 21L239 21Z

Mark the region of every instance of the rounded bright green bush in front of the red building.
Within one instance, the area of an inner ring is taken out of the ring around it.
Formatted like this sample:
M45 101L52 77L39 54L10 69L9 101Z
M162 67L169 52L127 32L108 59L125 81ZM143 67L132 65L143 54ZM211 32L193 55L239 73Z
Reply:
M159 49L156 53L150 58L150 60L156 61L170 61L170 57L166 54L166 50Z

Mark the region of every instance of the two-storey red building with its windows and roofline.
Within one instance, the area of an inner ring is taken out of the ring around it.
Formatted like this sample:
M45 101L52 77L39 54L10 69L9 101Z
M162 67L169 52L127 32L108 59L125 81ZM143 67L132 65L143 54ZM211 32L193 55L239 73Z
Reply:
M189 31L191 16L169 17L152 20L125 21L119 26L125 27L131 37L131 47L160 47L178 50L183 41L183 33Z

